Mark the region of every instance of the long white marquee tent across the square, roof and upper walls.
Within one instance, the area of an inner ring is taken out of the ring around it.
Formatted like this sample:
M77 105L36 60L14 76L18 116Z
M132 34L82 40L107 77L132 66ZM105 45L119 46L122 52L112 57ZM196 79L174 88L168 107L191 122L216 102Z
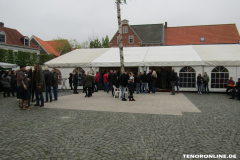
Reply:
M183 67L190 66L196 73L207 72L211 79L214 67L224 66L235 80L240 77L239 44L126 47L123 53L125 67L138 67L139 71L148 71L151 67L174 67L176 72L180 72ZM58 68L64 78L76 67L84 71L120 67L119 49L77 49L45 65Z

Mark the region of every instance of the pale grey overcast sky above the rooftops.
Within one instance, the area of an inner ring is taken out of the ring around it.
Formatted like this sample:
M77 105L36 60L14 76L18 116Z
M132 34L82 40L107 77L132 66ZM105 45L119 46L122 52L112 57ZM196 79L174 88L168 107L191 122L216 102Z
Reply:
M88 40L93 33L111 39L118 29L115 0L0 0L0 22L24 36ZM235 23L240 0L127 0L122 20L130 25L168 22L168 26Z

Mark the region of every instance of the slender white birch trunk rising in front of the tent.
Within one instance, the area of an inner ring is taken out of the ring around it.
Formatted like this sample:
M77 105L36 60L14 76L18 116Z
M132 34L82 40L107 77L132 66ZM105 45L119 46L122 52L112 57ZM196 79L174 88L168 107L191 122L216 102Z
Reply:
M119 53L120 53L120 65L121 71L124 72L124 57L123 57L123 44L122 44L122 22L121 22L121 3L126 3L126 0L121 2L122 0L116 0L117 3L117 17L118 17L118 43L119 43Z

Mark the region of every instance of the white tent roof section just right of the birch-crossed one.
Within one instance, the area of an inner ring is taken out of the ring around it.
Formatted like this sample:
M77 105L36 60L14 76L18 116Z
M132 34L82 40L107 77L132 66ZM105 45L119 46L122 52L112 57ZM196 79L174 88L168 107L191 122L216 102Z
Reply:
M196 66L203 65L192 46L149 47L145 66Z

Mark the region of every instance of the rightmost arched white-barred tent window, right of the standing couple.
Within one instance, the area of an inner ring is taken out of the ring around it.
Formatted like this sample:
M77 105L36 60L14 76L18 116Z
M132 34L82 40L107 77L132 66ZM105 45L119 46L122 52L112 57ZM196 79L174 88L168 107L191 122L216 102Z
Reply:
M213 68L211 72L211 88L227 88L229 71L223 66Z

